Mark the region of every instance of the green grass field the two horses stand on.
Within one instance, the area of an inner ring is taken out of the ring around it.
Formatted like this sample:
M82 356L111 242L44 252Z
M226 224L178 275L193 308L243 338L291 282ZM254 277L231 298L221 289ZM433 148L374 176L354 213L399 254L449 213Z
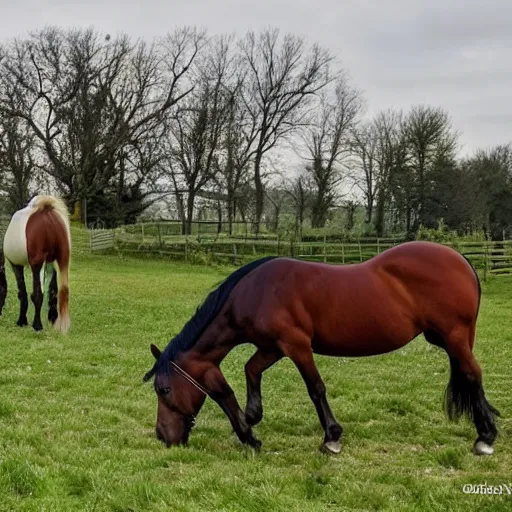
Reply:
M442 411L443 352L418 339L366 359L318 357L345 427L339 456L319 453L319 422L292 364L263 378L263 442L243 448L207 401L189 446L154 436L156 397L142 376L149 343L163 348L229 269L84 256L72 264L72 331L15 327L13 276L0 318L0 510L324 511L511 510L510 495L468 495L464 484L512 487L512 280L484 285L476 355L502 412L496 453L471 454L472 425ZM33 310L29 309L29 320ZM46 308L45 308L46 315ZM241 403L251 347L223 370ZM506 491L504 491L506 493Z

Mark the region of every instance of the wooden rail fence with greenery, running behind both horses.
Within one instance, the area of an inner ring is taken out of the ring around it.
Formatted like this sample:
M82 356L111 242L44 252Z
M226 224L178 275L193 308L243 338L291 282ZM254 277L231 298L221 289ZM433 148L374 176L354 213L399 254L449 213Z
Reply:
M0 216L0 235L9 219ZM85 230L72 226L74 254L117 251L126 255L156 255L191 262L219 262L240 265L262 256L290 256L325 263L358 263L402 243L398 237L345 240L341 235L324 234L303 237L300 241L282 239L279 235L259 237L246 233L229 236L225 233L207 233L205 223L190 236L177 229L176 222L166 227L161 223L123 226L116 230ZM452 244L447 244L452 245ZM512 240L461 241L454 248L463 254L483 274L512 275Z

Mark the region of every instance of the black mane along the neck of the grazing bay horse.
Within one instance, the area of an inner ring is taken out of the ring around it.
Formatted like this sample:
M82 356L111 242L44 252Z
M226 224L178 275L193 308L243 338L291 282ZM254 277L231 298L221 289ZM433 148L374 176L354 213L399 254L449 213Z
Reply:
M144 376L144 380L149 380L155 373L169 373L169 361L172 361L179 352L186 351L194 346L204 330L220 313L220 310L238 282L249 272L274 258L275 256L261 258L240 267L229 275L215 290L210 292L203 304L197 308L194 316L185 324L181 332L168 343L153 368Z

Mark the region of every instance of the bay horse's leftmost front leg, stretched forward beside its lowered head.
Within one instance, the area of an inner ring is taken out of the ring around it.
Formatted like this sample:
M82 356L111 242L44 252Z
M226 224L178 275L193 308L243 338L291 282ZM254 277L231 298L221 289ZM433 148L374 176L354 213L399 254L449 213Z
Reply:
M238 439L253 448L260 448L261 442L254 437L252 428L238 405L235 393L227 383L220 368L214 367L208 370L204 374L203 382L209 390L211 398L219 404L228 417Z

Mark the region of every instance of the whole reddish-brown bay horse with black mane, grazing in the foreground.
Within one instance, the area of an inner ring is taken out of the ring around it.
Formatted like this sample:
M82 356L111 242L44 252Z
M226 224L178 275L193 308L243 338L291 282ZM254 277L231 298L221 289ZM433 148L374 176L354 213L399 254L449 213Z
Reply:
M289 357L300 371L325 432L323 449L339 453L342 427L326 399L313 354L370 356L403 347L420 333L446 351L451 378L450 419L469 416L478 433L473 451L492 454L498 411L487 401L473 355L480 285L459 253L409 242L369 261L336 266L287 258L246 265L210 293L157 362L156 435L167 446L186 443L208 395L229 418L242 443L258 448L252 426L261 421L262 373ZM245 366L247 405L240 409L219 365L235 346L255 354Z

